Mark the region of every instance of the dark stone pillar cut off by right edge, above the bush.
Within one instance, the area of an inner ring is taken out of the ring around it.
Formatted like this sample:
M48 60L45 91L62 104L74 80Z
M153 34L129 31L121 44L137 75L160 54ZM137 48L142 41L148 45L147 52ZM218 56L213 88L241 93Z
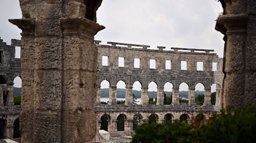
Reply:
M256 1L220 1L224 9L216 30L224 34L223 102L256 104Z

